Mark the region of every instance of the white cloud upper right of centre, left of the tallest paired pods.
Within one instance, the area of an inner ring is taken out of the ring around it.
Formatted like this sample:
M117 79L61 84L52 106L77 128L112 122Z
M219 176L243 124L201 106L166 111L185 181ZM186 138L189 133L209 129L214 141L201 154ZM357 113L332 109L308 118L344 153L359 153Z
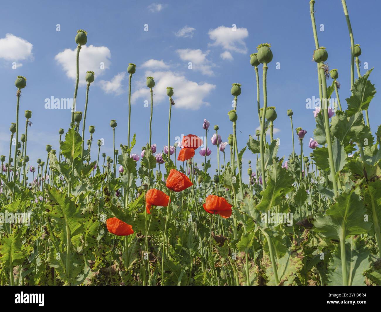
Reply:
M245 38L248 37L249 32L246 28L234 28L219 26L216 29L210 29L209 38L214 42L211 46L221 46L226 51L237 53L247 53Z

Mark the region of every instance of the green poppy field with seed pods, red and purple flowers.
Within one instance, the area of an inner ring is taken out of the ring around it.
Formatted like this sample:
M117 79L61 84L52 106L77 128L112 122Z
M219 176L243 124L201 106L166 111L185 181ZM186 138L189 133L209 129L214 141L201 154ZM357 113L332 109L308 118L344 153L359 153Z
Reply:
M316 124L311 134L294 127L291 109L267 105L269 43L259 44L247 62L256 77L257 96L250 105L260 130L246 146L238 146L236 136L237 101L245 86L233 83L226 97L235 109L221 121L231 127L226 142L219 126L206 119L199 121L206 142L194 134L171 142L176 90L168 86L168 145L158 150L151 142L155 80L147 77L150 134L140 142L141 154L132 154L137 142L130 129L131 80L138 68L130 63L128 132L125 142L116 144L118 124L110 121L112 155L102 153L96 126L86 120L96 79L88 71L85 107L67 115L57 134L59 150L47 145L41 159L29 160L32 112L26 110L25 119L19 114L28 85L18 76L10 149L0 159L0 284L381 285L381 126L371 128L368 118L374 74L360 68L359 38L342 3L351 38L351 77L346 77L351 95L345 101L339 98L339 70L327 65L336 47L319 42L315 1L309 2L317 66L309 74L317 74L321 102L311 112ZM82 29L75 36L74 99L87 36ZM333 97L337 107L328 105ZM290 117L288 157L277 155L277 114ZM203 159L199 165L196 153ZM244 153L251 159L247 173Z

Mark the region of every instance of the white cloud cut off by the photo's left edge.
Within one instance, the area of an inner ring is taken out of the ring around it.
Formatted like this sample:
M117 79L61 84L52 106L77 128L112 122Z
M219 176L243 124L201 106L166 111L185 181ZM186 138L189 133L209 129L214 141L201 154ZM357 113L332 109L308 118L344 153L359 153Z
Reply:
M32 43L12 34L6 34L5 38L0 38L0 58L6 61L32 59L32 49Z

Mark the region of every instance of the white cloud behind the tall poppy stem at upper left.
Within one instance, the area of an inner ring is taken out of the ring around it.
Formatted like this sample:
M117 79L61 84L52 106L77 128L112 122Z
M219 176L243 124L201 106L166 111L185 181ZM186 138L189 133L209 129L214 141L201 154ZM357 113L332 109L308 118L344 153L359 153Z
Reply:
M65 49L55 56L58 64L66 72L67 77L75 80L77 77L77 48L74 50ZM82 46L79 53L79 83L86 84L85 76L88 70L95 73L95 82L97 77L104 74L105 69L110 67L111 52L107 46ZM104 69L101 69L101 63L104 63Z

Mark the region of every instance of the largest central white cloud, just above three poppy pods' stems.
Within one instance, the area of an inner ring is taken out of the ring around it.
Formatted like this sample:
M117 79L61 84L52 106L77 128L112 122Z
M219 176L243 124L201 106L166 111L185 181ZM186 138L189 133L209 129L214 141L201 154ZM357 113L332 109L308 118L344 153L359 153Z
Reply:
M156 72L147 71L145 76L155 77L155 104L168 101L166 87L173 87L173 100L176 108L197 110L201 106L209 105L209 102L205 101L205 98L216 88L216 85L210 83L197 83L187 80L184 75L170 70ZM140 88L131 96L131 101L133 103L136 103L138 99L146 100L150 98L149 88L146 86L146 79L138 82L138 87Z

